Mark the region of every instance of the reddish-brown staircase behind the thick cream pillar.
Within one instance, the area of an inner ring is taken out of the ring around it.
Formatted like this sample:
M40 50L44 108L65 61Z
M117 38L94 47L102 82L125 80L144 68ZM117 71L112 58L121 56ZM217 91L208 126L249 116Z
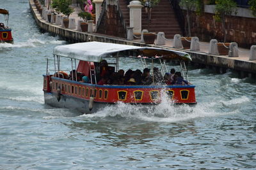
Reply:
M129 26L130 17L127 0L119 0L118 3L123 13L125 25ZM151 21L147 20L145 8L142 8L141 26L142 29L147 29L149 32L164 32L166 38L173 38L175 34L182 34L170 0L161 0L159 4L152 8Z

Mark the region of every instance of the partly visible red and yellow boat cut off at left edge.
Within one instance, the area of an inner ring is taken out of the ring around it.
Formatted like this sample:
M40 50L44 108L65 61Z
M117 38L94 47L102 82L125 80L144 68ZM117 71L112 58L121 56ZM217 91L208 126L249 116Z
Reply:
M0 14L3 14L5 20L5 24L0 20L0 43L12 43L12 29L8 27L9 11L0 8Z

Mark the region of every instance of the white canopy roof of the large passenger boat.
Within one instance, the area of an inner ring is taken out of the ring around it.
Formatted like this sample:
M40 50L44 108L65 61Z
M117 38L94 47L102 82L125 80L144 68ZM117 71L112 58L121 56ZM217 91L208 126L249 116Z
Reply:
M53 54L71 59L100 62L104 57L109 57L109 55L123 51L138 51L143 56L147 57L154 57L157 55L166 56L167 58L170 57L170 59L191 60L189 54L185 52L147 46L141 47L114 43L101 43L97 41L56 46L53 50Z

